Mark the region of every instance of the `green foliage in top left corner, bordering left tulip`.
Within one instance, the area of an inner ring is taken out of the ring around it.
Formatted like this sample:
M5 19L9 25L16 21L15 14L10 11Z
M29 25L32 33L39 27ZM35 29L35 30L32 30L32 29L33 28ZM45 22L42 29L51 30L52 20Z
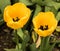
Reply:
M10 0L0 0L0 25L4 23L3 21L3 12L7 5L10 5Z

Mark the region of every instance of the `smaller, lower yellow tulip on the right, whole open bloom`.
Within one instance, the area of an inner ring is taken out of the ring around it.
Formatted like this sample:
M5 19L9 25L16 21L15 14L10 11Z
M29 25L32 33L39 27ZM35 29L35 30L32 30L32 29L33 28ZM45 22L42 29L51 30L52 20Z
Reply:
M35 32L42 37L51 35L57 26L57 20L52 12L40 12L32 21Z

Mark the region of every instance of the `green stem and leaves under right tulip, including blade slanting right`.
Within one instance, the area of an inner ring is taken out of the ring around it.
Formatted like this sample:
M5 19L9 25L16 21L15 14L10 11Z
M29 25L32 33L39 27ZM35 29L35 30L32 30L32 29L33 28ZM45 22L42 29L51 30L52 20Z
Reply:
M50 36L49 37L42 37L42 42L39 48L39 51L52 51L56 43L50 45Z

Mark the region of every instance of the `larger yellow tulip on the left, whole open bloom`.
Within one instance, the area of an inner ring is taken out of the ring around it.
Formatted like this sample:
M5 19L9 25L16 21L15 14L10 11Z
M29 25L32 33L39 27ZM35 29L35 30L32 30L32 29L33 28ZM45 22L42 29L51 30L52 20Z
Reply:
M29 20L31 11L23 3L15 3L4 9L4 21L12 29L22 28Z

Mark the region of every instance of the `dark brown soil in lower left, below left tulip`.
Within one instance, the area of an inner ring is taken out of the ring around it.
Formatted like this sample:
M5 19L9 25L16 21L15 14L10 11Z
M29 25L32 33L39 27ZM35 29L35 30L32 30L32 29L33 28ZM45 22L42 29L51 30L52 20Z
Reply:
M0 51L5 51L4 48L15 48L15 43L12 40L12 29L5 24L0 26Z

